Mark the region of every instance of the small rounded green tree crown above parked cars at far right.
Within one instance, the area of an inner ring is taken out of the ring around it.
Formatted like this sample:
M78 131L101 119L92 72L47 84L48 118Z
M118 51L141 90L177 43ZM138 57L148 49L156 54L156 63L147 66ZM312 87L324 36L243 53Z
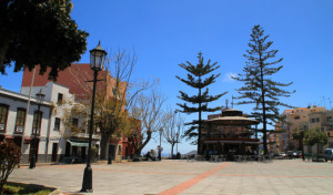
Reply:
M320 131L320 127L310 129L305 131L304 143L306 145L313 146L314 144L325 145L329 142L329 136L326 133Z

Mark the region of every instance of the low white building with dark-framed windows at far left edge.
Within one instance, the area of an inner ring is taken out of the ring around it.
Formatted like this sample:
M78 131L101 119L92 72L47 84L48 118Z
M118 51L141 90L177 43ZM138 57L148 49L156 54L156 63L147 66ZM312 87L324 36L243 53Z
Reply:
M0 89L0 141L12 140L21 146L22 162L27 163L30 154L31 140L39 137L38 154L46 154L49 120L52 104L44 101L38 112L34 98L30 99L29 112L27 113L29 96L12 91ZM27 117L27 119L26 119Z

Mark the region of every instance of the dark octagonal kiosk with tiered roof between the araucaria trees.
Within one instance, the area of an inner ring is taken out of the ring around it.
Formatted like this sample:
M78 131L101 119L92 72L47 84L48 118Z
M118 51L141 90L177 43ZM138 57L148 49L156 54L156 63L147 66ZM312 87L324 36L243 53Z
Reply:
M254 136L252 125L258 121L243 115L242 111L224 109L222 114L209 115L203 121L200 154L230 156L258 152L259 138Z

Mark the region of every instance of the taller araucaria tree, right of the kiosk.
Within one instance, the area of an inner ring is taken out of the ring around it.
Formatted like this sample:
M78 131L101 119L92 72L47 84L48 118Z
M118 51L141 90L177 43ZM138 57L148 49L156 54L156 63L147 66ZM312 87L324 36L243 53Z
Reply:
M254 104L252 115L263 123L263 148L268 155L266 132L268 124L276 123L280 119L279 106L292 107L282 103L279 98L287 98L295 91L289 92L282 90L290 83L281 83L272 80L272 75L278 73L282 65L273 66L282 61L282 58L275 60L278 50L270 50L272 41L266 41L269 35L264 35L264 30L260 25L254 25L250 39L250 50L246 50L244 57L248 59L243 69L243 74L233 78L244 82L244 86L236 90L240 93L238 99L245 99L238 104Z

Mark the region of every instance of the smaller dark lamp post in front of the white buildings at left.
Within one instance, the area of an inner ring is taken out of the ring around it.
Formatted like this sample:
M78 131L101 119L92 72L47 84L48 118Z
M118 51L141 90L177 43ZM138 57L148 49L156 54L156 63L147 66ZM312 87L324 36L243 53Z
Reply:
M37 101L37 104L38 104L38 110L37 110L37 114L38 115L37 115L37 117L41 117L40 105L43 103L44 98L46 98L46 94L43 94L42 90L40 89L40 91L36 94L36 101ZM37 122L39 122L38 119L37 119ZM31 160L30 160L30 166L29 166L29 168L34 168L36 167L36 153L38 153L37 152L37 129L41 127L40 123L36 124L36 125L37 126L34 127L33 140L32 140L32 145L31 145L32 146L32 156L31 156Z

